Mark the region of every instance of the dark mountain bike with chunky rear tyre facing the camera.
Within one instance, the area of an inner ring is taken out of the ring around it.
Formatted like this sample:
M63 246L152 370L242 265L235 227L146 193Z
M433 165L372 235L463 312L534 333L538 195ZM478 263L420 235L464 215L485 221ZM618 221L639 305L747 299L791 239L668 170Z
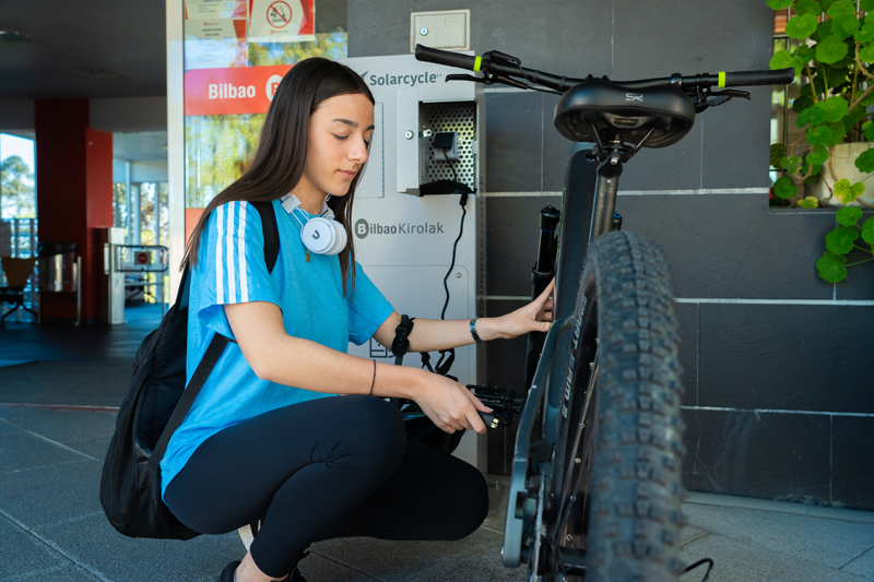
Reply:
M554 322L519 418L503 563L527 563L531 582L676 580L685 452L677 320L663 252L621 230L619 177L641 147L680 141L696 114L749 99L727 87L784 85L794 71L611 81L527 69L496 50L473 57L420 45L415 56L482 73L447 81L562 95L556 130L593 144L568 163ZM545 287L548 268L534 274Z

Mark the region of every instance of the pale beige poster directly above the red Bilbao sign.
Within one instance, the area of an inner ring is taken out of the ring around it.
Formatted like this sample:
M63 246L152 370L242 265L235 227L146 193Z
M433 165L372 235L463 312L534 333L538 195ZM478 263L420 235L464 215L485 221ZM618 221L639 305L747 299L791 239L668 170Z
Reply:
M185 1L185 69L246 67L246 0Z

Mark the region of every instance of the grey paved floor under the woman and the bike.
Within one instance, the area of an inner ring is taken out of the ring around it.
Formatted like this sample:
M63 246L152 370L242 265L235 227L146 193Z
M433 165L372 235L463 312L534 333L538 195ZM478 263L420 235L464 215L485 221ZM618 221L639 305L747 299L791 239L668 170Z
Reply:
M85 348L56 341L61 332L50 332L48 354L28 344L38 340L33 329L15 335L16 328L0 333L0 353L13 360L0 363L0 582L213 582L228 561L241 558L236 533L188 542L131 539L104 516L99 478L115 428L115 412L104 406L118 387L97 384L118 381L122 372L115 358L132 357L137 333L116 330L128 347L101 340L106 353L87 351L90 365L82 365L79 352ZM46 360L78 388L64 395L64 382L49 378L43 366L21 364ZM104 379L93 382L91 397L84 388L88 375ZM523 568L500 566L508 480L489 477L498 484L489 491L493 511L466 539L330 541L312 546L302 572L309 582L524 581ZM874 513L690 494L684 514L682 558L712 558L712 582L874 581ZM702 575L704 569L696 570L681 581Z

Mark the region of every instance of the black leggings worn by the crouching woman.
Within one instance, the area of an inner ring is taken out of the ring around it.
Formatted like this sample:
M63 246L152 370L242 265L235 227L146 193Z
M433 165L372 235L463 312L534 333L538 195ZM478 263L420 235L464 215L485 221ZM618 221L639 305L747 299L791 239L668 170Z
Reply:
M250 550L273 578L312 542L461 539L488 510L476 468L408 441L398 411L369 396L304 402L228 427L194 451L164 497L204 534L263 520Z

